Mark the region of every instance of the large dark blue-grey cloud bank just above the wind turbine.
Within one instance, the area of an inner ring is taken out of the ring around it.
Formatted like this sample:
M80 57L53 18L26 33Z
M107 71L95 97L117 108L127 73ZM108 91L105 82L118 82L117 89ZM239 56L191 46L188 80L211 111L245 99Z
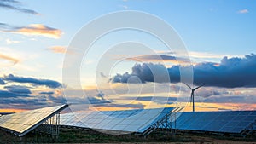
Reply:
M256 87L255 61L256 55L251 54L245 55L243 58L224 57L220 63L204 62L196 64L194 66L194 84L224 88ZM113 83L127 83L129 78L135 76L140 78L142 83L155 82L151 69L157 69L157 71L154 71L157 75L167 70L170 79L158 78L160 81L156 81L156 83L167 83L169 80L172 83L179 83L180 68L180 66L166 68L163 65L152 63L136 64L132 67L131 73L116 74L111 81Z

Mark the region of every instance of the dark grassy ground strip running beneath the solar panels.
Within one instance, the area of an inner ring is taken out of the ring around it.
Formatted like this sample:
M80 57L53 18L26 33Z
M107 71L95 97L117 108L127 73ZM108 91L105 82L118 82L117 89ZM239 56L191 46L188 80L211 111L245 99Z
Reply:
M137 135L107 135L94 130L61 128L56 139L49 135L29 133L22 139L3 130L0 131L0 143L256 143L256 135L230 137L222 135L179 134L166 135L153 133L147 138Z

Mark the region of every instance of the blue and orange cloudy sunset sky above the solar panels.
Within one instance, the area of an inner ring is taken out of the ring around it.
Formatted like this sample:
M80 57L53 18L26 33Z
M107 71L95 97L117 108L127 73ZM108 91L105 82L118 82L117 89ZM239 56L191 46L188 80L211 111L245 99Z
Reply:
M186 68L193 69L191 87L204 85L195 91L196 111L255 110L255 4L249 0L0 0L0 112L66 102L116 110L175 107L177 101L191 111L190 89L180 83ZM76 34L102 15L125 11L164 20L181 37L189 59L177 57L146 32L108 32L86 54L79 54L83 55L79 87L64 83L65 58L77 55L68 50ZM188 61L190 65L183 65Z

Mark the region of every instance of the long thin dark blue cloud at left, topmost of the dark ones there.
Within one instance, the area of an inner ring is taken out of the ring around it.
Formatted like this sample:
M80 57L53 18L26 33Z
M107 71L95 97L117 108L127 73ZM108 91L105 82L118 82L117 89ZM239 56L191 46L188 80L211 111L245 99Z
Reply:
M49 80L49 79L24 78L24 77L14 76L13 74L4 76L3 79L6 81L9 81L9 82L29 83L29 84L34 84L36 86L38 86L38 85L46 86L46 87L52 88L52 89L61 88L61 83L54 81L54 80Z

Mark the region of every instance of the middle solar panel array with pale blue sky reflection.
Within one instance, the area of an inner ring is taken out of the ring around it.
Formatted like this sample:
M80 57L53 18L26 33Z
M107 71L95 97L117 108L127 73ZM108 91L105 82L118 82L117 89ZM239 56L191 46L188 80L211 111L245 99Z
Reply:
M143 133L160 118L172 111L172 107L125 111L88 111L61 114L61 125Z

